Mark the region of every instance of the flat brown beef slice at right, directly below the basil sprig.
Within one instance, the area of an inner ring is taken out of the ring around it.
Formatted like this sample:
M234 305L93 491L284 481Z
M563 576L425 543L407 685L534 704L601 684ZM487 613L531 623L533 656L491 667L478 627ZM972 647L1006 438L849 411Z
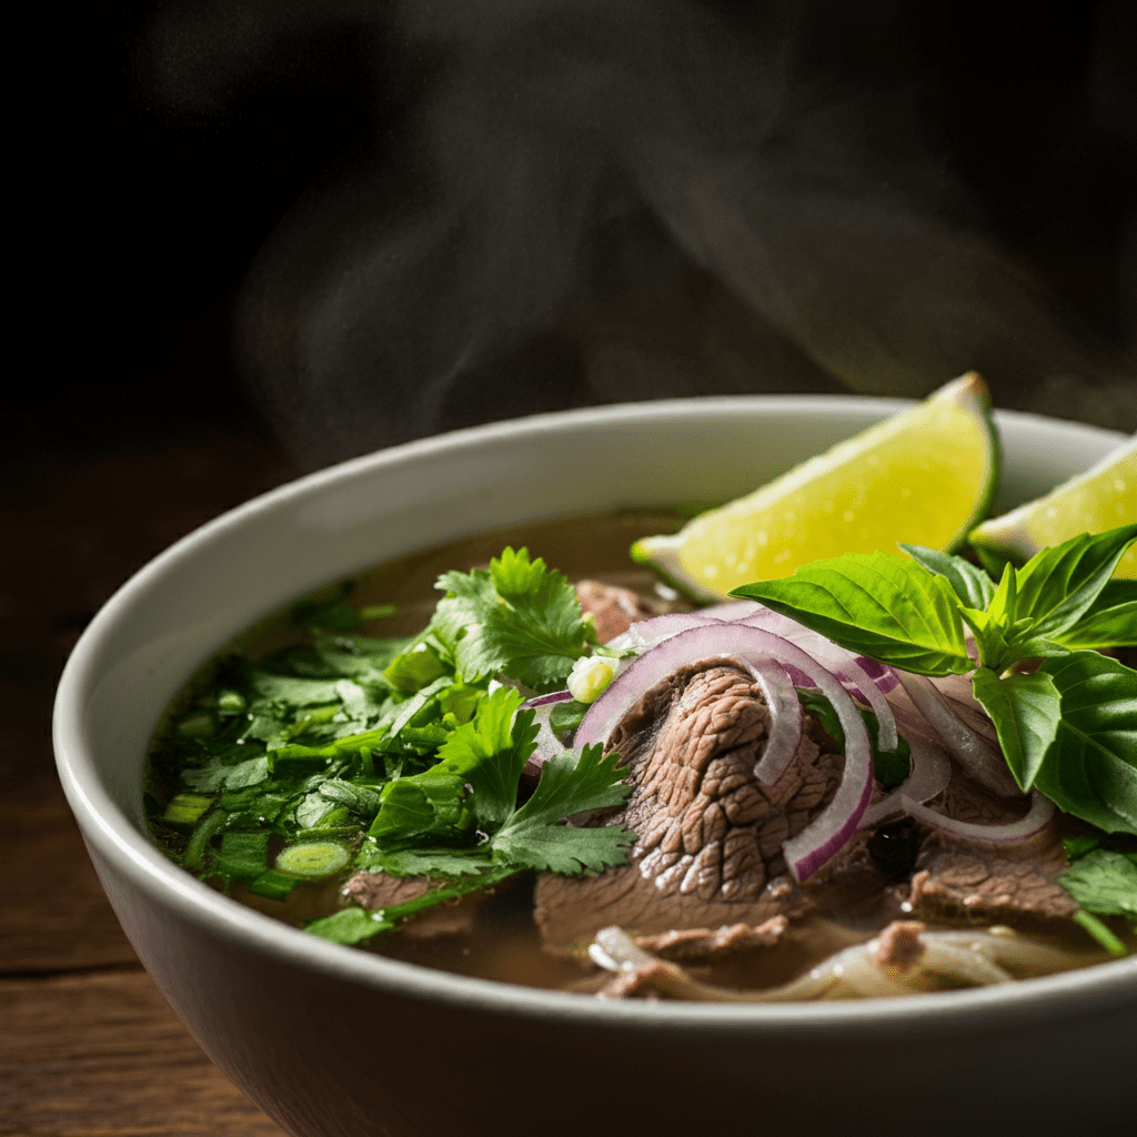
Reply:
M962 821L999 824L1027 812L1028 802L1005 802L956 773L936 805ZM1061 820L1024 841L961 840L932 830L915 861L908 904L928 921L976 924L1045 924L1077 911L1057 883L1067 869Z

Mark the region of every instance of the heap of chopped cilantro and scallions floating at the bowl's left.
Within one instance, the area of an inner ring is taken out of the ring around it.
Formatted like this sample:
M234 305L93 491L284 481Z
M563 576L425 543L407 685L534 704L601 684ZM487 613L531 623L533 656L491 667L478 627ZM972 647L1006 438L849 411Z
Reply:
M565 824L626 799L615 756L557 755L517 804L536 728L523 696L497 680L555 689L576 659L603 653L573 586L507 548L437 587L445 596L410 639L354 634L390 609L357 612L341 594L296 606L304 642L223 661L151 754L159 844L202 878L274 898L348 866L439 881L381 914L347 908L308 924L340 943L525 870L623 863L633 833Z

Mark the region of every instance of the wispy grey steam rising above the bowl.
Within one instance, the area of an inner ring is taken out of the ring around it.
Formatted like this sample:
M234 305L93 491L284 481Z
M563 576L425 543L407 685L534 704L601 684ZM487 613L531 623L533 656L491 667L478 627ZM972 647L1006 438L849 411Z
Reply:
M969 368L1001 405L1137 428L1132 362L991 239L919 76L843 64L896 18L886 0L190 3L156 24L152 66L200 109L327 23L393 34L414 64L395 143L314 189L242 293L244 368L306 465L533 410L921 396Z

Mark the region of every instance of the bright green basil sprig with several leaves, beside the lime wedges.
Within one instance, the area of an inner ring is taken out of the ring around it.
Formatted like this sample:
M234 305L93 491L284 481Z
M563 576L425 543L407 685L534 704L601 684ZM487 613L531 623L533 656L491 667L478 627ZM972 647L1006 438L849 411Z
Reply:
M1107 832L1137 833L1137 672L1081 647L1132 638L1129 591L1106 586L1135 539L1137 525L1084 534L1021 568L1005 565L997 587L961 557L902 546L912 561L849 554L732 595L880 663L924 675L972 672L1024 791L1037 787ZM1021 671L1027 659L1041 659L1031 674Z

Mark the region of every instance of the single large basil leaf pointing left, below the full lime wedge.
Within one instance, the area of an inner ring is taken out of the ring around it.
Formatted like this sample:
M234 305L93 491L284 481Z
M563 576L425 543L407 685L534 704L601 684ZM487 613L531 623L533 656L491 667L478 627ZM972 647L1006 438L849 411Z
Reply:
M761 600L857 655L905 671L947 675L974 667L946 578L887 553L815 561L730 595Z

